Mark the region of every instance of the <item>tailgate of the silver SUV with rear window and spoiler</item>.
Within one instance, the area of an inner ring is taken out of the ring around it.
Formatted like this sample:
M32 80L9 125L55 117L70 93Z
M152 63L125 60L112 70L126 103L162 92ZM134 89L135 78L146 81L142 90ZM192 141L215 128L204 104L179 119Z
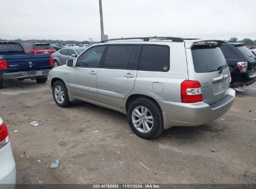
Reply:
M189 80L199 81L202 100L216 103L227 96L229 68L217 42L196 42L186 48Z

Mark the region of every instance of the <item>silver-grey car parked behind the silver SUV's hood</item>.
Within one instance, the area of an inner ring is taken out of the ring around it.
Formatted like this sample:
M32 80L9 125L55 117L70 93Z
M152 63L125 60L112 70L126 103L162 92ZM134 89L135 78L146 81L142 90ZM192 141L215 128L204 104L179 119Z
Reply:
M69 47L69 48L62 48L61 50L58 50L57 52L52 54L52 58L54 60L54 67L59 67L61 65L64 65L68 59L74 60L80 53L83 52L85 48L82 47Z

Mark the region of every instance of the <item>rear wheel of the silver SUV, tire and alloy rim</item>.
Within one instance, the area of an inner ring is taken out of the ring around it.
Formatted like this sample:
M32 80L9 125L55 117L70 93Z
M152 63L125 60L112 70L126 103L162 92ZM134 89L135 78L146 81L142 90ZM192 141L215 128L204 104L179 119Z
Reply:
M128 107L128 121L133 132L143 139L153 139L163 132L161 109L151 99L135 99Z

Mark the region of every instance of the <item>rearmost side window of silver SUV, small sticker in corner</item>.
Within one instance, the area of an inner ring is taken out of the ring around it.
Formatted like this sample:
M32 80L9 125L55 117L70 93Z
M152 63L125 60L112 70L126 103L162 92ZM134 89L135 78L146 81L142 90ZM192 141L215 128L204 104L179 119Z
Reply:
M139 70L168 71L169 47L162 45L143 45Z

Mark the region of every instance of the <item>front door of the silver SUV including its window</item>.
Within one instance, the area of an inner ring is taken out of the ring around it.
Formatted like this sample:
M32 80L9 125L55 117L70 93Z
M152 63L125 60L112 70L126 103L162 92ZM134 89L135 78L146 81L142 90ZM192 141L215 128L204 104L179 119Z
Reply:
M68 81L70 94L76 98L98 102L97 73L105 46L88 49L77 59L74 68L70 68Z

